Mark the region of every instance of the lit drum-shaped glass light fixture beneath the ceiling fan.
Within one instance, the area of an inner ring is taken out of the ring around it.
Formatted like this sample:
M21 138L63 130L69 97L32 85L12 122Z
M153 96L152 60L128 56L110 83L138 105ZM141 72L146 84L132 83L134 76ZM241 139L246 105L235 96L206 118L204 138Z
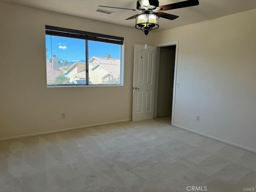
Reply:
M159 28L159 16L152 13L142 13L136 16L135 28L142 30L145 35L151 30Z

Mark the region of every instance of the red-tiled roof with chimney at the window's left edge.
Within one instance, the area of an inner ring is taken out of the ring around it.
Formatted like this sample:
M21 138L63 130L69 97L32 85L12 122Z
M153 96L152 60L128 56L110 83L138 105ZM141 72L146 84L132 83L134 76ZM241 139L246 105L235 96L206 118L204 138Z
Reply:
M46 76L47 84L54 84L56 77L60 75L60 70L58 68L58 58L52 57L52 62L46 59Z

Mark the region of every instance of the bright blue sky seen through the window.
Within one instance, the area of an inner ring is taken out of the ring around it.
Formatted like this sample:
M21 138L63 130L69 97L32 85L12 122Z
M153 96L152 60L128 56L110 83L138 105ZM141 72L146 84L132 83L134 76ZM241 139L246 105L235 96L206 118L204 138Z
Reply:
M51 47L52 41L52 47ZM85 60L85 40L46 35L46 53L49 57L56 55L59 59L73 61ZM93 56L105 57L109 53L112 58L120 59L121 46L97 41L88 41L89 59ZM52 53L51 53L52 52Z

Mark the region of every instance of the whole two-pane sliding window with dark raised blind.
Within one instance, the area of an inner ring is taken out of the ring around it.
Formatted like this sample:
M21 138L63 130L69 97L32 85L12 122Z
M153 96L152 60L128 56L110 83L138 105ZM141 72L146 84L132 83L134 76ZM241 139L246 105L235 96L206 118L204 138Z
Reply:
M46 26L47 86L121 85L124 38Z

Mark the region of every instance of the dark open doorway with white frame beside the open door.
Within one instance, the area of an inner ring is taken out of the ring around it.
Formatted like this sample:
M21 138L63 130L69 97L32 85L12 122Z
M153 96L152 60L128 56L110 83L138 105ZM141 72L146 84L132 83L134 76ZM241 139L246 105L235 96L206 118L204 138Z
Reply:
M154 118L171 116L171 125L173 125L178 41L155 46L158 47L158 61Z

